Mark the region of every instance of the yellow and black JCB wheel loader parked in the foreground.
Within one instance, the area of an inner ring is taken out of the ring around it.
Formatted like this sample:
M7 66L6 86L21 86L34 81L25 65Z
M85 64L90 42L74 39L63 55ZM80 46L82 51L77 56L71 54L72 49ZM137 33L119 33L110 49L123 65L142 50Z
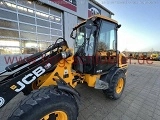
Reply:
M95 15L71 32L75 49L63 38L5 68L13 72L0 81L0 108L18 93L27 97L8 120L77 120L80 94L75 87L87 83L108 98L119 99L126 83L127 61L117 50L115 20Z

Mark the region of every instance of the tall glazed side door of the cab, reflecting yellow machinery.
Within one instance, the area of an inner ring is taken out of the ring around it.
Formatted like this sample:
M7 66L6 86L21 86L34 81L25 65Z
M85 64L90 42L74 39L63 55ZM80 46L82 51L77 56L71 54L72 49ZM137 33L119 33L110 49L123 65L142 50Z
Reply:
M117 62L116 24L102 21L97 40L96 73L103 73L116 66Z

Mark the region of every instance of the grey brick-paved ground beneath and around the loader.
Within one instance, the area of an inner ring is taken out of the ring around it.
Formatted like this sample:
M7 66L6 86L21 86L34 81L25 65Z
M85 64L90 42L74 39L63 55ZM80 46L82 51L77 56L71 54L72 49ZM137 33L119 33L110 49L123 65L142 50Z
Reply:
M160 62L130 64L124 93L116 101L86 85L77 89L82 96L79 120L160 120ZM6 120L22 98L19 94L0 110L0 120Z

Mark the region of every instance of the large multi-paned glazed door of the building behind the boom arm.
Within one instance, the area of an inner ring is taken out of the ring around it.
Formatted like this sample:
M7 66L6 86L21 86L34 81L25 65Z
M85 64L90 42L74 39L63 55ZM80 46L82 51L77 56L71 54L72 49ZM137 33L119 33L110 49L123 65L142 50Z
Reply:
M0 54L33 54L63 36L62 12L37 1L0 2Z

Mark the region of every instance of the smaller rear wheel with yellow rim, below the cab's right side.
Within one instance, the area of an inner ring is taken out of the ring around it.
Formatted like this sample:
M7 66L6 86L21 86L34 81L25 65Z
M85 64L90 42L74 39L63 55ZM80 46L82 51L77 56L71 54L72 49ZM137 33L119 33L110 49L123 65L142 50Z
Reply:
M118 71L109 84L109 89L103 90L103 93L109 98L117 100L121 97L126 83L126 75Z

